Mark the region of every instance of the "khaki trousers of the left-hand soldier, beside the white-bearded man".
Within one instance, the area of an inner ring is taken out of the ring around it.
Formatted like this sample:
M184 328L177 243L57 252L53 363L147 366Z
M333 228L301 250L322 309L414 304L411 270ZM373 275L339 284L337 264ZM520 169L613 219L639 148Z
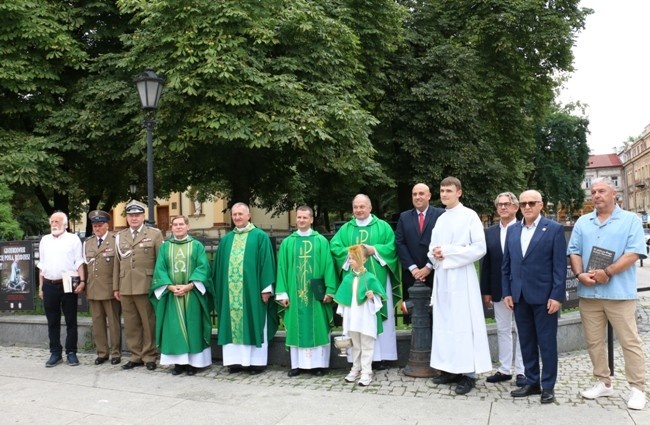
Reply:
M120 302L112 300L88 300L93 319L93 340L97 357L122 356L122 324L120 323ZM107 329L108 327L108 329ZM110 337L110 350L109 341Z

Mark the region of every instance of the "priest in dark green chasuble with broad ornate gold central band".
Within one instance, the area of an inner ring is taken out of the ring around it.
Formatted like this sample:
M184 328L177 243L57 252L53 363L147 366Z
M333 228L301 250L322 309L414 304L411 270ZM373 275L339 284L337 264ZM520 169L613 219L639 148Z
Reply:
M250 222L248 205L231 209L235 228L219 242L212 267L217 342L230 373L258 374L268 363L268 342L278 328L274 248L268 235Z

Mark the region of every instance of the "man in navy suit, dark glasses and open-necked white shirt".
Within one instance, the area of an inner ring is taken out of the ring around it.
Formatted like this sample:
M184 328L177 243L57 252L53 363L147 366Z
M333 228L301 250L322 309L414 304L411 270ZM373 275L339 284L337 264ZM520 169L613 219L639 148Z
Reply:
M519 330L526 385L513 397L541 393L542 403L555 401L557 324L566 294L566 239L561 224L541 215L544 204L536 190L519 195L524 219L508 230L503 252L503 302L514 310ZM541 354L544 369L541 371Z

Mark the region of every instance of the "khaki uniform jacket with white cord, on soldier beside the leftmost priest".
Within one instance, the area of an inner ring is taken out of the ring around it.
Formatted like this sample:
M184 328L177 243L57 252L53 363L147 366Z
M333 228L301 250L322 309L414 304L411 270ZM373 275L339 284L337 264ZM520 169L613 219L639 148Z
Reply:
M148 295L162 242L162 233L153 227L142 226L135 240L130 228L120 231L115 237L113 290L120 295Z

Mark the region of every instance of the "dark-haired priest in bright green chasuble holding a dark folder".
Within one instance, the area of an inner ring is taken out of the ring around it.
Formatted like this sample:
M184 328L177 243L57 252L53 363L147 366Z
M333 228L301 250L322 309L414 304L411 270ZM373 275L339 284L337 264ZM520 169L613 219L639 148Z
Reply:
M298 207L298 230L282 241L278 252L275 299L283 307L280 315L291 355L289 376L305 369L321 376L330 361L331 303L337 278L329 242L311 228L313 222L313 210Z

